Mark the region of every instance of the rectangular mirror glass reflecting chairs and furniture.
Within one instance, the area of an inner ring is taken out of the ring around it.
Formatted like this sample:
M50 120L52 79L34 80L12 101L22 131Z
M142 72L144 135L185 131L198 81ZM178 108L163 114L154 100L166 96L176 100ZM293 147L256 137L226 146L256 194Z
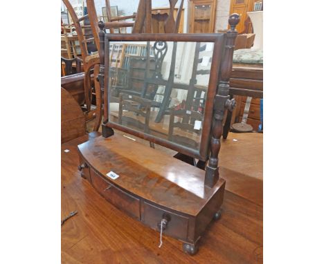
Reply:
M213 43L109 45L109 121L199 150Z

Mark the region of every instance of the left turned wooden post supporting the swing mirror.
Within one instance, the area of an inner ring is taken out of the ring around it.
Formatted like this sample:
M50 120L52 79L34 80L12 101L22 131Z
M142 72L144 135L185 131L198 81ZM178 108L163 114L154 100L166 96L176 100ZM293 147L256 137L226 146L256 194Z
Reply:
M108 122L108 80L109 80L109 43L105 46L105 23L103 21L99 21L98 26L100 28L99 39L100 39L100 70L98 74L98 79L100 83L100 90L103 91L103 122L101 124L102 129L102 137L109 138L111 135L114 135L114 130L107 126ZM105 75L105 68L107 69ZM98 106L97 106L98 107Z

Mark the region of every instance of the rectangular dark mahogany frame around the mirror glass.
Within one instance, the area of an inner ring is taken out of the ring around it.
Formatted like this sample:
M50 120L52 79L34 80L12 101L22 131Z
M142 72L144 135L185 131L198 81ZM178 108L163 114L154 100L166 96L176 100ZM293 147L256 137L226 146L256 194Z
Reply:
M131 135L135 135L138 138L143 138L144 140L148 140L159 144L163 147L167 147L169 149L173 149L174 151L178 151L180 153L190 155L194 158L198 158L199 160L206 161L209 157L210 151L210 133L213 122L213 104L214 98L217 92L217 84L219 81L219 71L220 71L220 63L222 61L222 50L223 45L225 43L225 35L224 34L105 34L104 40L104 54L100 54L100 59L104 58L104 124L105 126L110 127L111 129L118 129L119 131L123 131L125 133L129 133ZM204 111L204 120L202 123L202 133L201 133L201 142L199 150L190 149L189 147L185 147L181 144L177 144L175 142L170 142L168 140L164 140L162 138L157 138L154 135L149 135L143 133L141 131L136 131L129 127L116 124L114 122L109 121L109 41L186 41L186 42L212 42L214 43L213 57L210 66L210 77L208 82L208 91L206 95L206 105ZM102 48L100 46L100 51L102 52Z

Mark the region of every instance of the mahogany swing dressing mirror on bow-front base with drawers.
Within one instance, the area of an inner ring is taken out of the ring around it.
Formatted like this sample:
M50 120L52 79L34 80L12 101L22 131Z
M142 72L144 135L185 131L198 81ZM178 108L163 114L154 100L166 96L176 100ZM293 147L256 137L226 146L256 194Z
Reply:
M107 34L100 30L102 137L78 146L81 176L109 202L197 252L219 218L225 181L218 153L239 22L225 34ZM118 47L118 51L114 47ZM150 147L114 129L143 138ZM152 147L206 161L205 171Z

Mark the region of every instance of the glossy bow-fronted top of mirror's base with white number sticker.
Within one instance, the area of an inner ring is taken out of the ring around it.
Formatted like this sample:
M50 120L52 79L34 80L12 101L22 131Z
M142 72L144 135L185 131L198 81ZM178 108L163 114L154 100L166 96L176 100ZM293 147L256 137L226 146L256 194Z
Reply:
M225 181L204 185L205 171L122 135L98 137L78 146L91 167L113 185L146 200L197 216ZM107 173L118 174L112 180Z

